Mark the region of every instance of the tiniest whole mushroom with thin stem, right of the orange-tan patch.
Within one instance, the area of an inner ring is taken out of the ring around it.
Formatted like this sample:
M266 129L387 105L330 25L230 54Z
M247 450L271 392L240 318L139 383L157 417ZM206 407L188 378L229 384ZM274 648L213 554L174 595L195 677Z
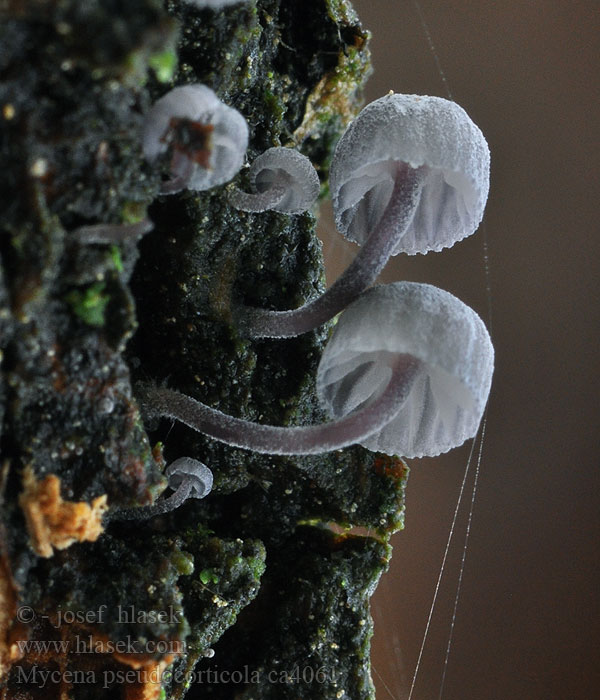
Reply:
M112 514L111 520L146 520L156 515L164 515L179 508L188 498L204 498L210 493L213 484L211 470L202 462L191 457L180 457L167 467L165 475L169 488L174 491L167 498L158 500L151 506L129 508Z

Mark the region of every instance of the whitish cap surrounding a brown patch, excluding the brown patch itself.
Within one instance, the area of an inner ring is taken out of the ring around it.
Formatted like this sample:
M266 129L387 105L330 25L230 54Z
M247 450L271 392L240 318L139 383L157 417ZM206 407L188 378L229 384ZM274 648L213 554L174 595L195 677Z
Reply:
M233 107L229 107L206 85L177 87L161 97L146 115L142 147L149 161L169 148L171 119L189 119L212 126L209 167L205 168L181 153L174 159L174 178L185 178L185 187L208 190L229 182L242 167L248 148L248 124Z

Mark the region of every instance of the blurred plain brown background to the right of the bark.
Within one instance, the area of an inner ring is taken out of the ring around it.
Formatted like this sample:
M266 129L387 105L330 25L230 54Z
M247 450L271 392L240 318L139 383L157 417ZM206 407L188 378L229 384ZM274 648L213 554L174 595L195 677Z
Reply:
M383 275L443 287L489 325L487 237L497 368L469 548L440 696L476 459L412 699L600 697L598 2L354 5L373 33L367 100L447 96L420 11L492 153L485 231ZM325 249L338 269L354 255L335 232ZM469 449L411 463L373 604L378 700L408 697Z

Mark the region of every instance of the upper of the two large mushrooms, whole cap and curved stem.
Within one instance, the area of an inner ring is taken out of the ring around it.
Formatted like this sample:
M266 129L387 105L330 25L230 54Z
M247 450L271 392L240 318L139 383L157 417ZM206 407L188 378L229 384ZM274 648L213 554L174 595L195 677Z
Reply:
M240 331L305 333L357 299L390 255L440 250L474 233L489 163L481 131L454 102L391 94L367 105L340 139L330 174L337 224L360 251L324 294L298 309L239 308Z

